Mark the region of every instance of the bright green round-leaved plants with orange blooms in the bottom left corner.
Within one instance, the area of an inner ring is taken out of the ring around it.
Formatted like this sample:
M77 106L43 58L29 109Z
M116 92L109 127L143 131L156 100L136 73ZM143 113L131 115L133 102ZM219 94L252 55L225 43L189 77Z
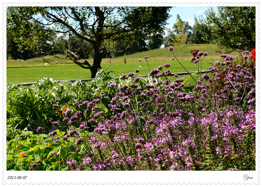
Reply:
M49 158L51 152L59 153L61 150L61 146L51 142L46 134L36 135L31 131L25 131L6 142L6 170L28 171L33 163L40 164L34 170L65 170L65 154L63 158L59 154Z

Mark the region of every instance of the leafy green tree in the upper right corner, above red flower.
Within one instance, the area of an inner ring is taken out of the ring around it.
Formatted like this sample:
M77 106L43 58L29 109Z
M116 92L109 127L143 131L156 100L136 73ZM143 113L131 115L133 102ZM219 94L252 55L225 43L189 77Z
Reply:
M236 51L238 43L244 50L256 45L256 7L219 6L217 14L210 7L206 18L195 18L194 27L201 31L207 42L216 41L227 52Z

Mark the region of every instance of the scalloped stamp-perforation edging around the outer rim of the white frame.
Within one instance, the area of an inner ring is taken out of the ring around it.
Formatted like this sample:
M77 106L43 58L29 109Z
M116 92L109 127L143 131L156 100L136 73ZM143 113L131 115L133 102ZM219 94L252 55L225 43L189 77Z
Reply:
M4 28L5 28L5 24L6 24L6 22L5 22L5 20L4 20L4 18L5 18L5 16L4 16L4 13L6 13L6 11L4 10L4 8L6 8L6 6L8 6L8 5L12 5L13 3L10 3L10 2L8 2L8 3L6 3L6 2L3 2L2 3L2 5L3 5L3 8L2 8L2 22L3 22L3 26L2 26L2 33L3 33L3 35L2 35L2 59L3 59L3 64L2 64L2 77L3 77L3 80L2 80L2 116L3 116L3 133L2 133L2 135L3 135L3 138L2 138L2 147L3 147L3 151L2 151L2 184L7 184L6 183L6 181L4 181L4 172L6 171L6 168L4 168L4 161L6 161L6 158L4 158L5 156L6 156L6 152L4 152L4 151L6 151L6 114L5 114L5 111L6 111L6 61L5 61L5 58L6 58L6 49L5 49L5 42L6 42L6 34L5 34L5 30L4 30ZM15 5L17 5L17 6L19 6L19 5L22 5L22 3L20 3L20 2L18 2L18 3L16 3L16 2L14 2L14 4ZM39 3L35 3L35 2L33 2L33 3L30 3L30 2L28 2L28 3L26 3L26 4L29 4L29 5L33 5L33 4L35 4L35 5L39 5ZM40 5L41 6L45 6L45 5L47 5L47 4L49 4L49 3L40 3ZM51 4L53 4L54 6L58 6L59 4L60 5L66 5L66 3L61 3L61 2L58 2L58 3L51 3ZM78 5L79 3L75 3L75 2L73 2L73 3L69 3L70 5ZM82 3L82 4L84 4L84 5L96 5L96 6L99 6L99 5L108 5L108 3L105 3L105 2L87 2L87 3ZM229 6L229 5L234 5L234 4L236 4L236 5L246 5L247 3L242 3L242 2L237 2L237 3L235 3L235 2L223 2L223 3L215 3L215 2L210 2L210 3L202 3L202 2L195 2L195 3L192 3L192 2L180 2L180 3L172 3L172 2L166 2L166 3L158 3L158 2L155 2L155 3L144 3L144 2L138 2L138 3L133 3L133 2L123 2L123 3L119 3L119 2L112 2L112 3L109 3L109 5L110 6L112 6L112 4L114 4L115 6L134 6L134 5L139 5L139 6L148 6L148 5L150 5L150 4L153 4L154 6L155 5L159 5L159 6L171 6L171 5L173 5L173 6L175 6L175 5L184 5L184 6L189 6L189 5L195 5L195 4L198 4L198 5L200 5L200 4L203 4L203 6L214 6L214 5L216 5L216 6ZM249 5L249 4L251 4L251 5ZM259 62L260 61L260 38L259 38L259 35L260 35L260 3L259 2L255 2L255 3L248 3L248 6L256 6L256 18L258 18L258 19L256 19L256 37L257 37L257 39L256 39L256 51L257 51L257 55L256 55L256 59L257 59L257 62ZM258 24L257 24L258 23ZM260 70L260 64L257 64L257 67L259 67L258 69L256 68L256 83L258 82L258 84L260 84L260 81L259 81L259 79L257 79L257 78L260 78L260 73L259 73L259 70ZM256 85L256 123L257 124L259 124L259 122L260 122L260 120L259 120L259 117L260 117L260 112L259 112L259 101L260 101L260 98L259 98L259 91L260 91L260 86L259 85ZM259 140L260 140L260 131L259 131L259 125L256 125L256 152L257 152L257 154L256 154L256 156L257 156L257 159L256 159L256 171L258 171L258 177L259 177L259 179L258 179L258 183L247 183L247 184L252 184L252 185L256 185L256 184L260 184L260 182L259 182L259 180L260 180L260 142L259 142ZM5 146L5 147L4 147ZM10 183L10 184L32 184L32 183L27 183L26 181L25 181L25 183ZM37 184L37 183L35 183L35 184ZM39 184L47 184L47 183L39 183ZM62 183L49 183L49 184L62 184ZM64 183L64 184L70 184L70 183ZM73 183L71 183L71 184L76 184L75 182L73 182ZM79 183L79 184L92 184L92 183ZM98 184L117 184L117 183L93 183L93 185L98 185ZM146 184L146 183L118 183L118 185L119 184L121 184L121 185L123 185L123 184ZM161 184L161 183L147 183L147 185L151 185L151 184ZM172 183L162 183L162 184L172 184ZM173 184L175 184L175 183L173 183ZM196 184L200 184L200 183L177 183L176 185L182 185L182 184L191 184L191 185L196 185ZM206 184L206 183L202 183L202 184ZM214 183L207 183L207 184L214 184ZM215 185L220 185L220 184L229 184L229 183L217 183L217 184L215 184ZM236 184L245 184L245 183L236 183ZM235 183L232 183L231 185L236 185Z

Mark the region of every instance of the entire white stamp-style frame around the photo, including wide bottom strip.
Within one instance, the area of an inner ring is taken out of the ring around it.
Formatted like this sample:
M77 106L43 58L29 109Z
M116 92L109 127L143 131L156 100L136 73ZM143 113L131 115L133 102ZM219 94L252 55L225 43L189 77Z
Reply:
M260 184L260 64L256 66L256 171L6 171L6 7L7 6L66 6L64 1L48 3L39 1L27 1L30 3L10 3L2 2L2 184ZM81 0L79 1L81 2ZM109 1L109 2L85 2L70 3L71 6L256 6L256 62L260 61L260 3L239 2L209 2L201 3L194 1L187 2L141 2L133 3L129 1ZM192 3L194 2L194 3ZM244 175L253 177L251 180L244 180ZM27 176L27 179L7 179L8 176Z

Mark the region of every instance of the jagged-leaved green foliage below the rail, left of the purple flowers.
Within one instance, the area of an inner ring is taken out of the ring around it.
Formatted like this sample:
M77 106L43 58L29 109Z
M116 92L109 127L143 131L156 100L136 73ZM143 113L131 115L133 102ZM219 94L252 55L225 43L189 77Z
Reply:
M56 82L53 79L40 79L32 86L19 87L16 85L7 85L7 139L11 140L17 134L21 134L23 130L30 130L34 133L31 123L36 126L45 127L48 132L53 129L52 121L63 121L63 116L52 107L55 99L59 99L59 108L63 108L69 103L67 109L75 109L73 104L77 101L79 104L84 101L99 99L99 94L107 93L102 99L102 106L105 111L110 114L108 104L113 98L113 89L109 87L111 83L122 85L124 80L114 79L112 71L100 69L96 75L96 79L90 82L69 81ZM106 80L106 81L105 81ZM61 110L61 109L60 109ZM83 116L84 117L84 116ZM108 116L109 117L109 116ZM61 123L60 130L68 128L67 123ZM58 127L56 127L58 128Z

